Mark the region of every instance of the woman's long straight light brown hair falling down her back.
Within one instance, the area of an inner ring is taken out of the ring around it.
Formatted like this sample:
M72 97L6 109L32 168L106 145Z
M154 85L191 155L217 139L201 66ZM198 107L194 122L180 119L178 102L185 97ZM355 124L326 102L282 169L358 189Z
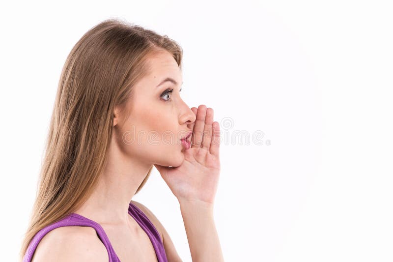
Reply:
M148 58L160 51L181 68L182 48L174 40L114 18L89 29L72 48L58 83L21 261L38 231L78 209L94 191L106 164L114 107L123 108L148 73Z

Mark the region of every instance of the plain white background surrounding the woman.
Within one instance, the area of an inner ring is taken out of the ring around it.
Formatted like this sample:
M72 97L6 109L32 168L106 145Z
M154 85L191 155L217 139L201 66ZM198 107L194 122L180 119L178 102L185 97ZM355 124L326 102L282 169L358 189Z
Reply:
M1 250L16 261L65 58L107 18L184 51L183 98L215 111L215 222L226 262L393 261L390 1L63 1L0 11ZM237 135L236 135L237 134ZM268 143L271 145L268 145ZM154 169L134 200L191 261L179 205Z

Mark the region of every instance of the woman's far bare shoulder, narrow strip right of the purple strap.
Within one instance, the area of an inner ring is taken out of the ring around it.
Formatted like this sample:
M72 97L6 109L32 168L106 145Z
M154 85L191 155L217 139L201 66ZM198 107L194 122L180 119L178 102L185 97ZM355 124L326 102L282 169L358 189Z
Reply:
M167 230L165 227L161 224L161 222L157 219L157 217L153 214L152 211L150 211L149 208L147 208L145 205L140 204L139 202L131 200L133 204L139 207L140 210L147 216L147 218L153 223L154 227L157 229L157 231L161 235L161 242L164 245L165 253L167 255L168 261L172 262L182 262L182 259L179 257L179 254L177 254L176 248L172 242L172 239L170 238Z

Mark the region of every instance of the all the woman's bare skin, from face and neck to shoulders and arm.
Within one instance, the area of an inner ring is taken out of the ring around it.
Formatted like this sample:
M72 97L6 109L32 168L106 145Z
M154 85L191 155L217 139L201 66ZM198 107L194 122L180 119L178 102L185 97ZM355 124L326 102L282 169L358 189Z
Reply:
M103 227L122 262L157 261L147 234L128 214L130 200L154 165L179 201L193 262L224 261L213 220L220 174L219 123L213 121L213 109L189 108L182 100L181 71L168 52L149 61L151 72L135 85L134 96L125 108L114 110L108 164L98 187L74 213ZM167 77L177 84L159 85ZM172 93L166 93L171 88ZM191 148L185 150L179 138L187 131L193 135ZM175 143L162 143L168 132L175 134ZM161 143L152 143L149 133ZM147 207L133 203L160 232L168 261L182 261L160 221ZM54 260L108 261L108 252L93 228L61 227L43 237L33 257L33 262Z

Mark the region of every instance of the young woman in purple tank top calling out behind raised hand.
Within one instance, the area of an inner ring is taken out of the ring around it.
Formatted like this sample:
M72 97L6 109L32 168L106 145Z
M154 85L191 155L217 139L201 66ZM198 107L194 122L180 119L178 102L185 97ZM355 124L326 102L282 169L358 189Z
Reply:
M116 19L74 46L21 260L181 261L160 221L132 200L155 166L179 201L193 262L224 261L213 220L220 128L211 108L182 100L181 59L167 35Z

